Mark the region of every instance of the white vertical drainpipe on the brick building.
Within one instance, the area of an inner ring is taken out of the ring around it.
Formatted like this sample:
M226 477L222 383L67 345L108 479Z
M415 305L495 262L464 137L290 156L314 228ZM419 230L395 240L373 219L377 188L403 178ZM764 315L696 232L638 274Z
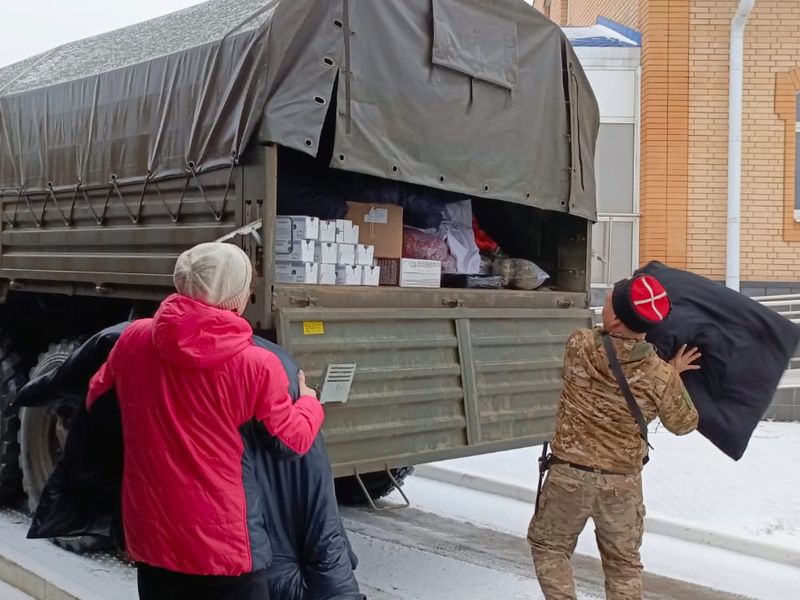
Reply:
M756 0L741 0L731 21L730 84L728 95L728 247L725 285L739 291L742 213L742 86L744 28Z

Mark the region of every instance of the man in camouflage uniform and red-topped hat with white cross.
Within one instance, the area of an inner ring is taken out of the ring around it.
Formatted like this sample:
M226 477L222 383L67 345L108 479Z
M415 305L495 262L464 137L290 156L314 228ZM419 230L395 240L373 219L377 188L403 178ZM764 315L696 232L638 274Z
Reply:
M609 366L609 335L622 371L649 423L676 435L698 415L680 374L698 369L700 353L684 346L669 362L645 341L670 311L663 286L644 275L618 282L606 297L603 326L570 336L552 457L528 529L536 576L547 600L575 600L570 559L589 517L605 573L606 598L642 598L639 548L644 528L641 471L647 444Z

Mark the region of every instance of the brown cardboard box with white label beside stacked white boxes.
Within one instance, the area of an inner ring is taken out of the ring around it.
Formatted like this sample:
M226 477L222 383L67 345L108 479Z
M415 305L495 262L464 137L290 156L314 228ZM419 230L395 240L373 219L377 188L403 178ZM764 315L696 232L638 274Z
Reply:
M358 241L374 246L376 258L403 256L403 207L348 202L347 218L359 227Z

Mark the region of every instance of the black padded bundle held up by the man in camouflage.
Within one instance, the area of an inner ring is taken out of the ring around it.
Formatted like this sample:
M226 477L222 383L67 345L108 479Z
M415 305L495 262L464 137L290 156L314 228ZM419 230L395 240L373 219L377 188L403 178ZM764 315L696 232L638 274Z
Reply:
M647 335L664 359L697 346L699 371L683 375L700 413L698 430L739 460L800 341L800 327L723 285L653 261L639 269L658 279L672 313Z

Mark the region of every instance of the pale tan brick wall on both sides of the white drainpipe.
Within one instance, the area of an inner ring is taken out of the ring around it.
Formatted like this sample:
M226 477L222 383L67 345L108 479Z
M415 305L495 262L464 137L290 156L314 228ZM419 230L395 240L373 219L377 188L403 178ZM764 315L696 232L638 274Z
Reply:
M738 4L693 0L689 9L688 267L716 279L725 275L729 36ZM741 277L798 281L790 123L798 78L789 74L800 67L800 2L756 3L745 40Z

